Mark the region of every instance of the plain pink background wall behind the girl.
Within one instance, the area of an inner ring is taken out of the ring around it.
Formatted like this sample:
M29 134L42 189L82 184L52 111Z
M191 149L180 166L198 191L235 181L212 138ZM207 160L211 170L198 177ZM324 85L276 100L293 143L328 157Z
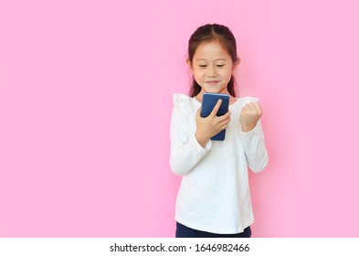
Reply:
M173 237L187 40L238 39L269 167L254 237L359 237L357 1L1 1L0 236Z

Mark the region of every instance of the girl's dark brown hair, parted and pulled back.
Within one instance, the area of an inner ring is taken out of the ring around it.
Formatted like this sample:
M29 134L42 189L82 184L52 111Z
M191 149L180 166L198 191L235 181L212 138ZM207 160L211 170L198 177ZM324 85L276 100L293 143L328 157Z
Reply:
M233 63L239 60L237 56L236 38L229 28L218 24L206 24L202 27L198 27L188 40L188 59L191 61L191 65L196 48L202 43L213 41L218 42L223 48L227 49ZM227 84L227 90L230 95L236 97L235 78L233 75ZM194 78L189 94L191 97L195 97L200 91L201 87Z

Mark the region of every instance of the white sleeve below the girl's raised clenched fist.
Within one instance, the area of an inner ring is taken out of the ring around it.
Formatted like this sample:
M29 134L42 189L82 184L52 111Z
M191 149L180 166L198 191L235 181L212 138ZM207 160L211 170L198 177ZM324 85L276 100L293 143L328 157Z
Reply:
M268 165L269 157L260 120L253 130L246 133L240 129L239 133L249 168L254 173L261 172Z

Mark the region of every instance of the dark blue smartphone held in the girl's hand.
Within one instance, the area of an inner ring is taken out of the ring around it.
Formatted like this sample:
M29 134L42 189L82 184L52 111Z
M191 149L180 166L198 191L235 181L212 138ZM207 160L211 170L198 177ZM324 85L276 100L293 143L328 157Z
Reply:
M228 112L229 95L223 93L209 93L205 92L202 98L201 116L207 117L216 106L216 102L221 99L222 103L216 113L216 116L224 115ZM224 141L226 137L226 130L222 130L211 138L212 141Z

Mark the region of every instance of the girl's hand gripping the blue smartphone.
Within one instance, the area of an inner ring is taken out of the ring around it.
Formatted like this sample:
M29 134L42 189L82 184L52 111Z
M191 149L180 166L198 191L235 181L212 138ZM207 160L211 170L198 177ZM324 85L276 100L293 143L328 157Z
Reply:
M195 124L197 126L195 138L203 147L206 146L211 137L216 135L216 133L225 130L228 126L230 121L229 111L222 116L216 116L216 112L218 112L221 103L222 100L218 100L216 106L207 117L201 117L201 109L199 109L195 115Z

